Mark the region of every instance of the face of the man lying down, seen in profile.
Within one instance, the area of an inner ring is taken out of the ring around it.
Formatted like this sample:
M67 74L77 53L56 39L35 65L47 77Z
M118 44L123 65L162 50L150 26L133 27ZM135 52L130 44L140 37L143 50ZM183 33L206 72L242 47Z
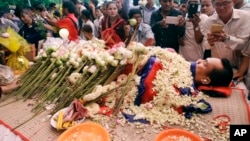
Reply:
M206 60L199 59L196 61L195 80L199 81L204 77L208 77L208 74L213 69L223 69L223 65L218 58L207 58Z

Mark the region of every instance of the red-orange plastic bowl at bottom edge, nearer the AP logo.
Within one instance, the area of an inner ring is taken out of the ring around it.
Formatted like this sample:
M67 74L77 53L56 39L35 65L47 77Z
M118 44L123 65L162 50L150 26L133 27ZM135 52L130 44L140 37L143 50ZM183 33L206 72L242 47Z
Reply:
M202 139L187 130L167 129L160 132L155 141L202 141Z

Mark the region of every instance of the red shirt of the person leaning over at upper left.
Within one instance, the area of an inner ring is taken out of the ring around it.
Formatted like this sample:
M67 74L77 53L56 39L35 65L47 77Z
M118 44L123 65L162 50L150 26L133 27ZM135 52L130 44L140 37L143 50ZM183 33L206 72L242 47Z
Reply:
M73 21L75 22L73 23ZM57 22L57 26L61 29L61 28L66 28L69 31L69 40L71 41L75 41L78 40L78 29L76 27L78 20L75 17L74 14L68 14L65 18L58 20Z

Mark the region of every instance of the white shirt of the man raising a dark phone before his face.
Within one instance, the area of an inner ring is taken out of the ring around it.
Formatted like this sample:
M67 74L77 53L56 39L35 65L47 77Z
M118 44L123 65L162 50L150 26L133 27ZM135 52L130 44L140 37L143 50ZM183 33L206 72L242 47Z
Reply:
M199 27L201 30L201 33L204 32L204 23L206 19L208 18L205 14L200 14L200 23ZM197 61L198 59L203 58L203 49L201 44L198 44L195 41L195 35L194 35L194 27L193 23L191 21L188 21L188 18L186 18L186 31L185 35L183 37L184 46L180 45L179 48L179 54L181 54L187 61Z

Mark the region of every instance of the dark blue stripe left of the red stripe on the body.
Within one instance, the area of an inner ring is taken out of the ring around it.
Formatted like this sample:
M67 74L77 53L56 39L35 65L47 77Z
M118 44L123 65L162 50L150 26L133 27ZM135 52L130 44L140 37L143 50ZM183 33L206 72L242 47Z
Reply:
M145 92L144 80L147 78L149 72L151 71L151 68L153 67L155 60L156 60L156 57L151 56L148 62L146 63L146 65L142 68L142 70L138 74L139 76L141 76L141 80L138 86L138 94L134 101L134 104L137 106L141 105L142 96Z

